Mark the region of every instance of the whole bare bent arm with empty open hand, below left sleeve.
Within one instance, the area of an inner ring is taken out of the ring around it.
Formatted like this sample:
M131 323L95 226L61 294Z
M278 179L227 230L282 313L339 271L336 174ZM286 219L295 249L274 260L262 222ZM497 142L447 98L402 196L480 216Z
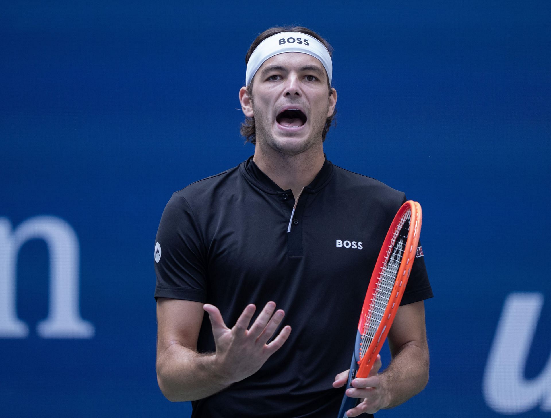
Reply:
M161 392L171 401L197 400L251 376L291 332L289 326L284 327L266 344L284 316L282 310L274 313L275 308L274 302L268 302L247 330L256 309L247 305L230 329L213 305L159 297L156 369ZM197 352L204 311L209 313L212 324L214 354Z

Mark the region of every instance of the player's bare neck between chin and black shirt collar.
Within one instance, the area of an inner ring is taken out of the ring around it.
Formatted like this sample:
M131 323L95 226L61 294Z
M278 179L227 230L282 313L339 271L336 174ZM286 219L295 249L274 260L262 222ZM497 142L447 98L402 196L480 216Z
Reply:
M280 188L291 189L295 198L314 180L325 161L322 144L293 156L266 148L257 144L252 160Z

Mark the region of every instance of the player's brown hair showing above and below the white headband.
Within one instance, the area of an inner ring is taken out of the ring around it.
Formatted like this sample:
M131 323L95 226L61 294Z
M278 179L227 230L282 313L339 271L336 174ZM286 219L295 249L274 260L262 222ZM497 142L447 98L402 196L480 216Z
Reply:
M327 48L327 51L329 51L329 56L333 56L333 48L331 45L329 45L329 42L327 42L325 39L323 39L320 35L318 35L313 30L310 30L308 28L303 28L302 26L277 26L275 28L270 28L265 31L263 31L260 35L256 37L256 39L252 42L251 46L249 47L249 51L247 51L247 55L245 56L245 64L249 63L249 58L251 58L251 55L253 51L255 51L256 47L262 42L264 39L267 39L268 37L272 35L279 34L280 32L302 32L303 34L310 35L312 37L315 37L318 41L320 41L325 47ZM331 84L329 83L329 79L327 79L327 87L329 89L329 95L333 93L331 90ZM247 90L249 91L249 97L251 98L251 101L253 100L252 96L252 80L249 86L247 86ZM331 116L329 116L325 121L325 127L323 127L323 132L321 134L322 142L325 141L325 136L327 135L327 132L329 131L329 128L335 122L335 115L337 113L337 109L333 112ZM251 144L256 144L256 127L255 127L255 118L254 117L245 117L245 122L241 123L241 135L245 137L245 142L250 142Z

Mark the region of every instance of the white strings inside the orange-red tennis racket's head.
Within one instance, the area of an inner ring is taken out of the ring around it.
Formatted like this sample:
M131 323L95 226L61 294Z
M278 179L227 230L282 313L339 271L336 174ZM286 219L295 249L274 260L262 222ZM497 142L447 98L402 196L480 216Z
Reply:
M402 262L404 242L407 241L410 218L411 210L408 209L402 215L398 226L393 232L390 244L388 245L385 260L381 267L379 278L377 279L373 297L371 298L369 310L366 312L364 318L364 329L360 344L360 359L363 359L371 345L383 315L385 314L388 301L392 295L392 289L396 282L398 269Z

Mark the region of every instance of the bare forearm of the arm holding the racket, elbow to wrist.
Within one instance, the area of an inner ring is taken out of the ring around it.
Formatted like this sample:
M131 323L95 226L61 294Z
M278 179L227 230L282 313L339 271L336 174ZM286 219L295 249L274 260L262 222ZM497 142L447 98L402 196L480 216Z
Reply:
M429 381L429 350L404 346L379 375L387 391L387 406L393 408L421 392Z

